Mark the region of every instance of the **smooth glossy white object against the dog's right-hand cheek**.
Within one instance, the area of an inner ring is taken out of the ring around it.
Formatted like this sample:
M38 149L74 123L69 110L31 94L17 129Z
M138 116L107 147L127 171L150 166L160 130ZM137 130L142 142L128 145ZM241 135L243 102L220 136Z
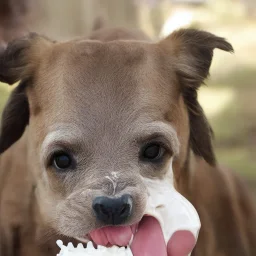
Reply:
M167 181L145 179L145 182L149 194L145 214L158 220L165 243L179 230L190 231L197 240L201 223L194 206Z

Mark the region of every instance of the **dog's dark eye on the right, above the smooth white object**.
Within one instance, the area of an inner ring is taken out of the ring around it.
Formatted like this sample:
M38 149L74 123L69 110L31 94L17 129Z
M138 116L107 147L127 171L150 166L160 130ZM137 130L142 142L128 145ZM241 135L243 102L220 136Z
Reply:
M144 161L159 161L165 154L165 148L159 143L150 143L142 148L141 159Z

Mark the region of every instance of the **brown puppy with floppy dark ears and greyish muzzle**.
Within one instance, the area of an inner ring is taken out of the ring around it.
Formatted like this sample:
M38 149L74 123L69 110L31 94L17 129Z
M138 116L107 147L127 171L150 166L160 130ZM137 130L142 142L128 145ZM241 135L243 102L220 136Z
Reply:
M1 256L55 255L58 238L109 224L106 209L94 208L102 197L127 202L112 224L139 222L143 178L164 180L170 159L177 190L202 222L192 255L256 255L252 200L219 167L197 101L215 48L232 51L223 38L193 29L157 43L100 29L90 40L31 34L9 44L0 80L21 82L2 116Z

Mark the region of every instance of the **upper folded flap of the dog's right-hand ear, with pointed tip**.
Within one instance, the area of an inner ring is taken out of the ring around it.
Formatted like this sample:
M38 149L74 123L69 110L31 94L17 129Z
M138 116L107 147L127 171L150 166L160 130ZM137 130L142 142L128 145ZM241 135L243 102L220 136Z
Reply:
M215 48L233 52L224 38L196 29L180 29L160 42L171 54L184 87L197 89L207 78Z

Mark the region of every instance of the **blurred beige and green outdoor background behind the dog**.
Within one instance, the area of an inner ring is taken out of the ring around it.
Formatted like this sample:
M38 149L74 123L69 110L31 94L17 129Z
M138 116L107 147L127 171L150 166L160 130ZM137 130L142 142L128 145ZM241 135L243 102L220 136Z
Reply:
M256 194L256 0L0 0L0 46L27 31L57 40L86 36L100 16L153 39L194 27L232 43L233 55L216 50L199 99L219 162L243 175ZM0 84L0 110L10 90Z

